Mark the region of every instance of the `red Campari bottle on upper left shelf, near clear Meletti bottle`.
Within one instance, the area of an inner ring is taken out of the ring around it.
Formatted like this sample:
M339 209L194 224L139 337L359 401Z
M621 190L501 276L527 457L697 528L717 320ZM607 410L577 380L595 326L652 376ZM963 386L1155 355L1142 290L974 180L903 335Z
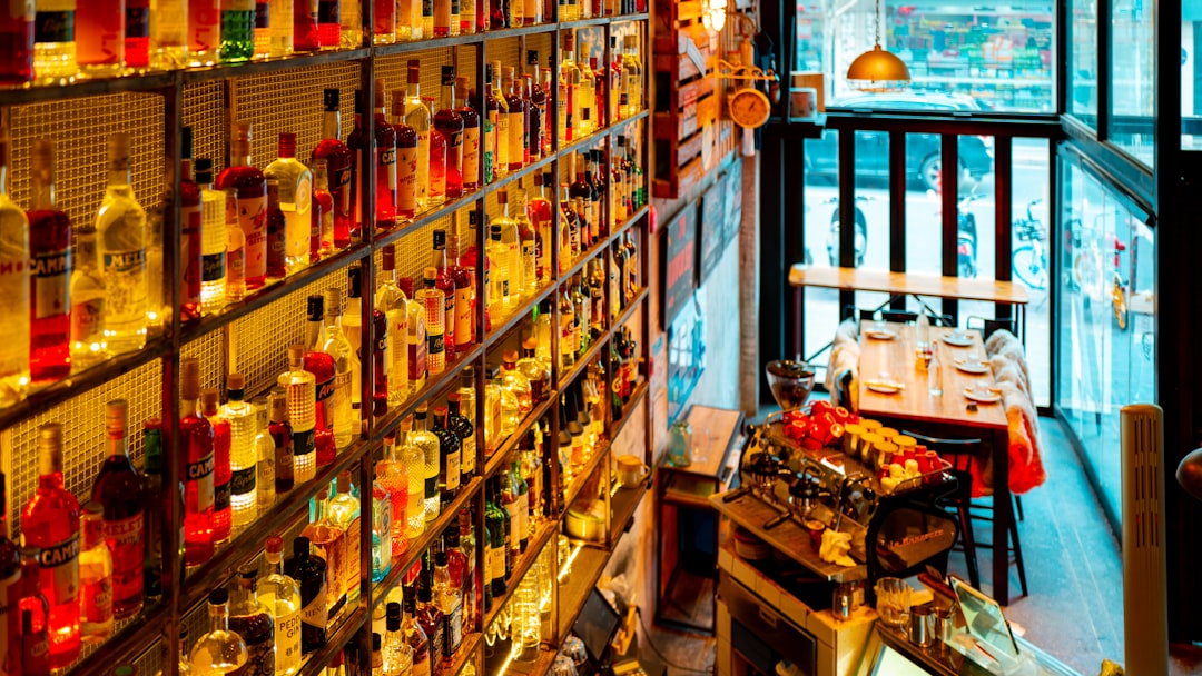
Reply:
M54 143L34 140L29 163L29 371L52 383L71 375L71 219L54 204Z

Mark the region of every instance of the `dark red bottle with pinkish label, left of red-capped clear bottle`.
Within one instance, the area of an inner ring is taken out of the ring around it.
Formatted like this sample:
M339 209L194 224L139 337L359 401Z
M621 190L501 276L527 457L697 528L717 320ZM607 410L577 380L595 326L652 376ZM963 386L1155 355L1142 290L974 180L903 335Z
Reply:
M267 179L250 163L250 124L234 122L230 166L218 175L218 190L238 191L238 226L246 238L246 289L267 283Z

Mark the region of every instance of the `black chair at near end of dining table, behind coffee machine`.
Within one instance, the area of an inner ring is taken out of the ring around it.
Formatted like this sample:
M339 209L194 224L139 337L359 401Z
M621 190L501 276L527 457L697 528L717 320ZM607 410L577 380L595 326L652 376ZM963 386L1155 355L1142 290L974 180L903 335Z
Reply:
M994 556L999 556L994 543L977 543L972 531L972 521L993 522L993 507L990 504L972 503L972 462L983 455L981 439L944 439L903 431L926 445L928 450L934 450L941 457L952 463L951 473L956 477L958 486L956 491L944 498L944 507L953 510L960 520L960 533L963 536L964 558L969 569L969 584L981 588L981 572L977 567L976 550L995 550ZM977 512L974 512L976 509ZM1027 568L1023 566L1023 545L1018 538L1018 524L1013 519L1010 521L1010 540L1001 554L1007 558L1013 555L1013 562L1018 567L1018 584L1027 596Z

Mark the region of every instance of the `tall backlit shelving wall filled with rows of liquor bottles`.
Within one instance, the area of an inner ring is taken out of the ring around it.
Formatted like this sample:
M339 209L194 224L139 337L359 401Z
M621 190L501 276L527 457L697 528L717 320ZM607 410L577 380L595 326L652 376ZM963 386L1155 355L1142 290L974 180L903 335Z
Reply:
M76 8L83 40L97 7ZM0 623L29 659L0 674L367 674L376 652L393 674L419 670L417 627L452 676L496 672L502 622L564 638L570 604L514 620L519 581L566 569L567 495L601 499L588 549L612 548L637 499L602 468L647 414L648 17L581 8L246 61L222 36L168 71L79 44L73 76L0 73L0 285L30 317L0 349L20 598ZM59 48L34 59L67 68Z

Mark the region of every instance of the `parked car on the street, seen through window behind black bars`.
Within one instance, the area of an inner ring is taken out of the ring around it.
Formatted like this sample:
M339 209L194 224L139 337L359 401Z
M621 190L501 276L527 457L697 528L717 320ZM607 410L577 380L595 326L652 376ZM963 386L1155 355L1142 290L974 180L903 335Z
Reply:
M844 108L849 110L899 110L964 113L987 112L989 106L971 96L950 94L924 94L920 91L895 91L882 94L851 94L833 98L827 109ZM823 180L838 180L839 144L838 134L823 132L822 138L808 140L805 144L807 180L819 177ZM856 132L856 175L886 179L889 175L889 134L882 131ZM922 190L939 190L939 177L942 169L940 137L935 133L909 133L905 144L905 166L912 172L909 180ZM993 172L993 139L981 136L959 137L959 162L962 187L968 189L968 181L980 183Z

